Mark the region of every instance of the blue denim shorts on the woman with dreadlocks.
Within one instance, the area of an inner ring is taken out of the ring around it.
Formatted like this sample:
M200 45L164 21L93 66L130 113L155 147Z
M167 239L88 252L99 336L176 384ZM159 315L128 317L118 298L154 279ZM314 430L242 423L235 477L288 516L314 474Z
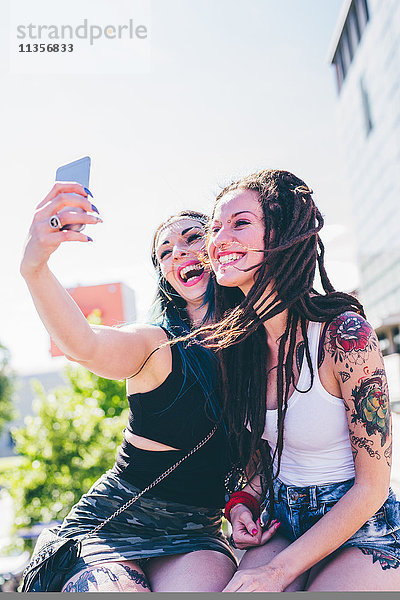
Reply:
M294 541L312 527L353 486L354 479L326 485L297 487L274 481L273 519L281 522L279 532ZM268 497L263 505L261 523L269 517ZM385 504L341 548L360 548L379 561L382 569L400 565L400 503L391 488Z

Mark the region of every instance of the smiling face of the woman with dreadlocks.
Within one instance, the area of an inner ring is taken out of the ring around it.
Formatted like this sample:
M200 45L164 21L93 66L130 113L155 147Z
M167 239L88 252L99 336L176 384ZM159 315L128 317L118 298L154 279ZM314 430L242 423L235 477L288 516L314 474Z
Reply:
M247 294L255 269L264 259L264 218L258 193L236 189L218 201L207 251L219 285L239 287Z

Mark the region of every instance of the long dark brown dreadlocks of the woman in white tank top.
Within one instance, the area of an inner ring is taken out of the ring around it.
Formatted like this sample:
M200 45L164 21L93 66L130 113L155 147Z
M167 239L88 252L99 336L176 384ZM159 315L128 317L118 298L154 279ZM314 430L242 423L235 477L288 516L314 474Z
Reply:
M294 384L294 353L300 327L305 360L314 373L307 339L307 321L329 322L352 310L364 316L356 298L336 292L324 266L324 246L318 235L323 217L314 204L312 190L283 170L267 169L225 187L220 199L234 190L254 190L263 211L264 251L254 268L254 284L247 296L238 288L215 286L215 324L200 331L203 343L217 350L223 385L223 414L242 467L260 457L273 504L273 479L280 469L285 415L290 384ZM313 287L316 267L324 293ZM267 332L263 324L286 311L286 327L279 339L277 369L278 438L273 456L262 440L266 421ZM306 392L308 390L299 390ZM248 431L250 428L250 442ZM277 458L277 469L273 463ZM272 510L271 513L272 514Z

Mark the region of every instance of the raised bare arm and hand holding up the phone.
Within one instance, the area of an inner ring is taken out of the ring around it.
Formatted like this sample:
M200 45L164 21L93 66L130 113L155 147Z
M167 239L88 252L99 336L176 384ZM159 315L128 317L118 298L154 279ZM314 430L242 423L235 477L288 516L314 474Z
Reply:
M93 206L81 185L56 183L36 208L21 261L21 274L44 326L67 358L103 377L124 379L140 369L149 354L165 341L165 334L152 326L89 325L47 264L63 242L88 241L83 233L51 228L50 217L65 207L79 207L85 213L63 212L59 215L62 225L101 222L89 214Z

